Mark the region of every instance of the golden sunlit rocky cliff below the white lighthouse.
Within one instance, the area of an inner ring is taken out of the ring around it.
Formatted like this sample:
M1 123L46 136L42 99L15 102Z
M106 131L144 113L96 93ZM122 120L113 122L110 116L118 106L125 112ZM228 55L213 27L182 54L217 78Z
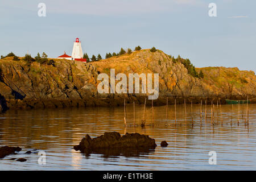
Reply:
M184 98L198 102L209 98L256 97L256 76L253 71L238 68L207 67L204 78L192 77L183 64L174 63L162 51L148 49L131 54L110 57L93 63L54 59L55 65L39 65L13 61L10 57L0 60L0 109L43 108L69 106L109 106L127 102L142 103L145 94L100 94L97 92L99 73L159 73L159 98ZM118 82L118 81L117 81ZM1 110L2 110L1 109Z

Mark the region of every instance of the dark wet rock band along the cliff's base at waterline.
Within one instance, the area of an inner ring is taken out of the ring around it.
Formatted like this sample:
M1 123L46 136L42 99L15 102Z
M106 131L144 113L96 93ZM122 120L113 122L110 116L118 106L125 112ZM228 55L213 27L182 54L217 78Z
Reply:
M228 100L247 100L247 97L233 96L233 97L174 97L174 96L159 96L157 100L154 100L154 106L166 105L166 98L168 97L168 105L174 105L175 99L176 104L184 104L184 100L187 104L200 104L203 102L205 105L205 100L207 100L207 105L217 104L217 101L221 101L222 105L226 104L226 99ZM250 96L255 98L256 96ZM69 108L69 107L113 107L113 106L123 106L123 101L126 100L126 104L144 105L144 100L147 96L113 96L111 97L90 97L88 99L24 99L24 100L0 100L0 111L6 111L11 109L58 109L58 108ZM151 106L152 101L146 100L146 105ZM254 102L251 102L254 104Z

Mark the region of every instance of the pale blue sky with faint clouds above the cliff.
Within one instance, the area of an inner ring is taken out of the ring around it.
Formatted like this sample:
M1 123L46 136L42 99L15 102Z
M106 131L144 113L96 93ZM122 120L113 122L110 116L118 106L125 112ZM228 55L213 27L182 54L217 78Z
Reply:
M154 46L195 67L256 72L255 9L255 0L0 0L0 55L71 55L80 38L89 57Z

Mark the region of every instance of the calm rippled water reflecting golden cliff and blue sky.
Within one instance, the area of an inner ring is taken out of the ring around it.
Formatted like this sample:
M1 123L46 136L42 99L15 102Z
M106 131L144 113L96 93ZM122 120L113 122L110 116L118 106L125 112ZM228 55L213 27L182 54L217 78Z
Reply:
M207 106L205 119L203 105L187 105L185 121L184 105L176 107L146 107L146 127L132 126L133 105L127 105L123 123L123 107L93 107L46 110L9 110L0 114L0 146L19 146L18 155L0 159L1 170L256 170L256 105L249 105L249 126L245 126L246 105ZM141 123L143 106L135 105L135 122ZM192 123L193 117L193 123ZM212 125L212 123L215 123ZM105 131L146 134L156 140L155 150L136 156L85 156L73 150L85 134L98 137ZM160 147L166 140L168 147ZM24 154L28 150L46 152L46 164L38 164L37 154ZM217 153L217 164L210 165L209 151ZM26 158L16 162L10 158Z

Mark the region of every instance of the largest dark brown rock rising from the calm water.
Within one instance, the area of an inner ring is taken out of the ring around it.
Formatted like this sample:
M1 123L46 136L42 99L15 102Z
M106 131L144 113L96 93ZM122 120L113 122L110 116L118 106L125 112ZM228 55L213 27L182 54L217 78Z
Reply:
M121 137L117 132L105 132L104 135L96 138L90 138L87 134L82 138L78 146L74 146L75 150L80 150L86 154L90 152L99 152L104 154L105 150L113 150L115 154L126 150L134 150L134 148L155 149L155 139L148 137L148 135L141 135L138 133L126 133ZM139 151L137 151L139 152Z

